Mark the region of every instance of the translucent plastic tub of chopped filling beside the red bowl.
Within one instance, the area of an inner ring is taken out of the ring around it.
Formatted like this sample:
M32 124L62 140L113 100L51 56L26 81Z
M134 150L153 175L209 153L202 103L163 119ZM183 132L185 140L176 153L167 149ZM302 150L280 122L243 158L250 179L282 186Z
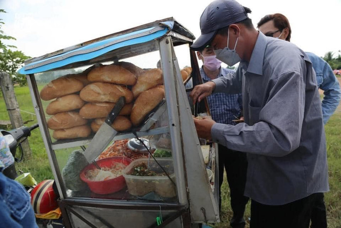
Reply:
M168 175L175 183L173 161L169 158L158 158L157 161L166 169ZM123 176L131 195L144 196L147 193L154 191L159 196L165 198L176 196L175 185L152 158L150 160L149 169L157 173L161 173L164 176L135 176L129 174L133 170L134 166L141 165L142 163L145 163L148 166L148 158L136 159L123 170Z

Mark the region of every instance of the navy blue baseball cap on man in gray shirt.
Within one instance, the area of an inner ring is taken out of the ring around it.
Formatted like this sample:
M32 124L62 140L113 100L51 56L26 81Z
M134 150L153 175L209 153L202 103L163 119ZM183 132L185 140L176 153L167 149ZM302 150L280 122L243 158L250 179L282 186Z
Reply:
M218 29L247 19L244 7L235 0L215 0L200 17L201 36L190 46L203 50L216 35Z

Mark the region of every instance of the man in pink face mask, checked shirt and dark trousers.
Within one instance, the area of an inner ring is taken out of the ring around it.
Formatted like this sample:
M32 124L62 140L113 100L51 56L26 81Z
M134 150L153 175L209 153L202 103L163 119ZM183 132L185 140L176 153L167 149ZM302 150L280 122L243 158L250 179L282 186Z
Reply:
M203 83L219 77L225 77L234 71L221 67L221 61L215 58L212 47L207 46L197 52L198 59L203 62L200 74ZM242 116L242 94L216 93L207 97L212 119L221 124L235 125L236 118ZM221 209L221 186L224 180L224 167L227 173L227 182L230 188L231 208L233 217L230 221L232 228L244 228L244 212L248 197L244 196L246 183L247 159L245 153L228 149L218 144L219 160L219 210Z

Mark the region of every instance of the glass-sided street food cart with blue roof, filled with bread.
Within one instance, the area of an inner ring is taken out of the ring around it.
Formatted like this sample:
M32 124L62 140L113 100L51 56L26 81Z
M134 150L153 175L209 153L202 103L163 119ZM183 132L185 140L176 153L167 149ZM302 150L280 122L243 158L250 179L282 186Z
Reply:
M167 18L33 58L20 69L27 75L66 227L173 228L219 222L217 145L199 139L193 123L193 115L209 115L208 105L204 100L193 106L188 98L192 86L202 83L189 49L194 39ZM123 76L108 78L103 69L110 67ZM156 74L158 83L149 79ZM116 86L125 97L128 111L121 119L128 127L119 128L107 148L96 152L94 164L76 168L83 158L75 151L82 155L94 143L103 117L117 104L117 94L105 86ZM163 91L162 98L151 90ZM142 96L145 103L140 103ZM170 155L157 157L157 152ZM122 170L114 182L93 181L106 159ZM155 172L144 176L142 165L145 172ZM97 174L87 173L89 169Z

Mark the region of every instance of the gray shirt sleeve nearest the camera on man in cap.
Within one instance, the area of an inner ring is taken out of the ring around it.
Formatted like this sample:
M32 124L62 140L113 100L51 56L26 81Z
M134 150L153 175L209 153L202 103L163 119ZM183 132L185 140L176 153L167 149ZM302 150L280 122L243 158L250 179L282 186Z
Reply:
M279 76L263 107L251 107L250 119L258 123L235 126L215 123L214 142L227 148L266 156L281 157L298 148L302 131L305 83L298 71ZM254 115L259 113L258 115Z

